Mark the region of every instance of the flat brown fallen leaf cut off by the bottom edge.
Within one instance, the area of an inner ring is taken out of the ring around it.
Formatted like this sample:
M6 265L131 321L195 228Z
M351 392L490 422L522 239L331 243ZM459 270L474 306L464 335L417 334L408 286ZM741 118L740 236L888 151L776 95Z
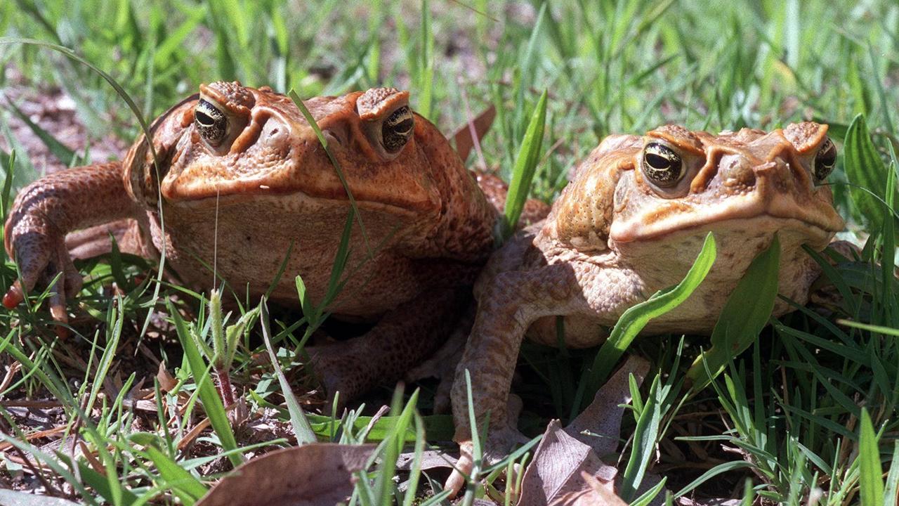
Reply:
M312 443L254 458L228 474L196 506L333 506L352 494L352 473L374 445Z

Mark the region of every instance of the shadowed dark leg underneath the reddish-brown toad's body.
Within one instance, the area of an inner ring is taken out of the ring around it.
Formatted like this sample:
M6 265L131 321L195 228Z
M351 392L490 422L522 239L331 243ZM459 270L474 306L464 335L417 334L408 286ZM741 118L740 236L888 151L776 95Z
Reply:
M367 333L307 348L329 399L347 402L378 384L394 384L430 357L458 325L470 303L468 288L436 290L387 312Z

